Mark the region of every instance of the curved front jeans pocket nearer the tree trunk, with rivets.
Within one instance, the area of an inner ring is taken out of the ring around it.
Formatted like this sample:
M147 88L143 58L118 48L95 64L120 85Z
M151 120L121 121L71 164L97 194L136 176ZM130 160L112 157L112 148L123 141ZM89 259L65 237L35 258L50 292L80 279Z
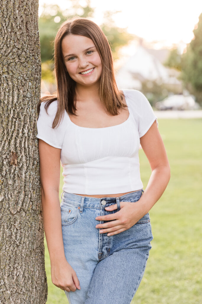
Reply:
M68 226L74 223L78 217L78 206L72 205L71 203L62 202L61 209L61 220L62 226Z

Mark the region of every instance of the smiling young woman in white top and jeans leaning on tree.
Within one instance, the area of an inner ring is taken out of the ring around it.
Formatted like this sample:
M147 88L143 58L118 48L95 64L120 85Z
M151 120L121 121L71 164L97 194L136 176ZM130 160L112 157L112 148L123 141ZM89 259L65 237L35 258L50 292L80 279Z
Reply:
M59 28L55 76L37 121L52 282L70 304L129 304L151 249L148 211L170 179L157 117L140 91L118 90L108 40L88 19ZM140 144L151 166L145 190Z

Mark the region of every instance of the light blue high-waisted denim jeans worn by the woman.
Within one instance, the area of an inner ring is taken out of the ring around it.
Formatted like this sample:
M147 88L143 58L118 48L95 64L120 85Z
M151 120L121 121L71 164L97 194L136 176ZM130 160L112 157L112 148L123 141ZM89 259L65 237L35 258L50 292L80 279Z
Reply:
M94 198L63 192L62 236L65 257L81 289L65 291L69 304L129 304L144 274L151 249L151 223L145 214L130 229L107 236L99 233L97 216L120 210L120 202L137 202L143 189L120 197ZM117 204L118 209L104 208Z

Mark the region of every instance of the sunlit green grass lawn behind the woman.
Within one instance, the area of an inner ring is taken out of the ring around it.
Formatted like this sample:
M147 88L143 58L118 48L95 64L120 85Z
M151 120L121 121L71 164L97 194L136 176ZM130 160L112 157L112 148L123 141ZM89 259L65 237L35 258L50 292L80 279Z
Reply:
M164 194L149 212L154 240L143 279L132 303L202 303L202 119L158 121L171 166L171 179ZM145 189L151 169L143 150L140 150L139 156ZM60 193L62 185L61 175ZM47 303L68 304L65 292L51 282L46 241L45 266Z

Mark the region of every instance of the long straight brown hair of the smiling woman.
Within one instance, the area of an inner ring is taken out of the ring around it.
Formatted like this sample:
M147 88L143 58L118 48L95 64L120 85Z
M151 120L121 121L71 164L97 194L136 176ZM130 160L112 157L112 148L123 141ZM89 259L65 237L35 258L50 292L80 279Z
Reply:
M47 112L48 106L54 100L58 100L57 113L52 128L55 128L58 123L60 123L65 110L68 114L78 116L75 113L76 82L69 76L66 70L61 48L62 39L69 34L90 38L100 55L102 73L100 78L99 97L105 109L107 109L111 115L118 115L118 109L127 107L127 105L122 102L123 93L119 92L115 81L113 57L107 37L96 23L89 19L76 16L63 22L55 37L54 59L57 91L51 95L42 97L37 105L37 112L39 114L41 102L46 102L45 110Z

